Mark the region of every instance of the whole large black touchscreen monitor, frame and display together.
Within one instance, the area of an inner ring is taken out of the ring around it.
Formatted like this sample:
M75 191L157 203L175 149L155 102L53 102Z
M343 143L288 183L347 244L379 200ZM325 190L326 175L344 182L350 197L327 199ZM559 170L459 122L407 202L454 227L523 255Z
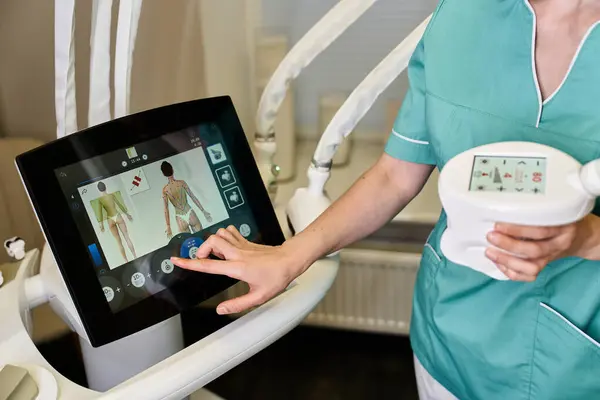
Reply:
M93 345L135 333L236 283L182 270L220 228L283 234L228 97L127 116L17 165Z

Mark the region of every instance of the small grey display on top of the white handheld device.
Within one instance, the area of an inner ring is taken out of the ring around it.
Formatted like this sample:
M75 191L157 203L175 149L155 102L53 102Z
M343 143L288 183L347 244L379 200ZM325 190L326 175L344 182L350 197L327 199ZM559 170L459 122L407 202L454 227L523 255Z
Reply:
M475 156L472 192L544 194L546 159L541 157Z

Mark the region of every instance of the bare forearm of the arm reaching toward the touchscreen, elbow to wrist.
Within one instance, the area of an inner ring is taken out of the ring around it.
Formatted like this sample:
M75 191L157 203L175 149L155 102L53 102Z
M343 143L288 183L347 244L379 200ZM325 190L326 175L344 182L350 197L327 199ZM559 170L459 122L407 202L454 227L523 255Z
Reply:
M408 163L384 154L315 222L284 246L302 259L304 272L324 255L375 232L423 188L433 166Z

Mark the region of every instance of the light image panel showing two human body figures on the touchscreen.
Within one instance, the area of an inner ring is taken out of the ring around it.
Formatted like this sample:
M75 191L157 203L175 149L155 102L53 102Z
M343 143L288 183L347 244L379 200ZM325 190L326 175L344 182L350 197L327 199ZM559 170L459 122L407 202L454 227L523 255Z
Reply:
M229 218L202 148L78 190L110 269Z

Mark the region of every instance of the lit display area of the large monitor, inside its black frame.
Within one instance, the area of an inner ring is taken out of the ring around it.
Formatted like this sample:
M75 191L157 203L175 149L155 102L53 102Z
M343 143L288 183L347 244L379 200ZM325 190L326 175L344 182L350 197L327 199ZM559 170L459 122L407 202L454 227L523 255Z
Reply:
M199 124L54 172L113 312L162 291L217 229L257 239L216 124Z

